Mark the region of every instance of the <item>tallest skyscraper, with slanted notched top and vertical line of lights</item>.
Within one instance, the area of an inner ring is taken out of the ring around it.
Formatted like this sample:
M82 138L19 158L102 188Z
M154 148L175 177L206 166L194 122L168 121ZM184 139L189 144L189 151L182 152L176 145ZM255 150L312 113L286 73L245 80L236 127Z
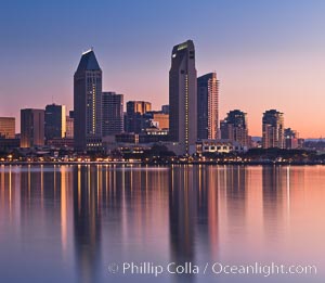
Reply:
M169 134L180 153L195 152L197 141L197 77L192 40L174 46L169 70Z

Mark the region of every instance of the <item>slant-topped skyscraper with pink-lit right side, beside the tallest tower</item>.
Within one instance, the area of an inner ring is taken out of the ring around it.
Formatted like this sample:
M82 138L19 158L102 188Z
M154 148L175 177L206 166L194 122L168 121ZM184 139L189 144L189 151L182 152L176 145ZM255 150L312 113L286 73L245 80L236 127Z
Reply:
M219 81L216 73L197 78L197 138L219 138Z

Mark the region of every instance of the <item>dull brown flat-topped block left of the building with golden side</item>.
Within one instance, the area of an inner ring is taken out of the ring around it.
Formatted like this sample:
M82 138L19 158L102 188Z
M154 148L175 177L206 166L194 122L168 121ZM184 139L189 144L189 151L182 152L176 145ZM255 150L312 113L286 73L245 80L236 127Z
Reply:
M21 147L44 145L44 111L21 110Z

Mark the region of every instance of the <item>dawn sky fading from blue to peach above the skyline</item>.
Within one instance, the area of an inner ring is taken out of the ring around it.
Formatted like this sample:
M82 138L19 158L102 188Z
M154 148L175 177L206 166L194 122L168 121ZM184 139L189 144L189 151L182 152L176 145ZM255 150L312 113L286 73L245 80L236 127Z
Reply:
M220 118L248 113L261 136L276 108L302 138L325 136L325 1L11 0L0 9L0 116L53 102L73 107L73 76L90 47L103 90L168 103L174 44L193 39L198 76L216 70ZM16 131L20 131L17 127Z

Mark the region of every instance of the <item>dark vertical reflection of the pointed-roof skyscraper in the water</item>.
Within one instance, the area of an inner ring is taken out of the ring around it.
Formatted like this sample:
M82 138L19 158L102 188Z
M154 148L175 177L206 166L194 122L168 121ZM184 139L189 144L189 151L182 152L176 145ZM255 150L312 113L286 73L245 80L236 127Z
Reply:
M101 173L92 166L74 167L74 236L78 282L99 282Z

